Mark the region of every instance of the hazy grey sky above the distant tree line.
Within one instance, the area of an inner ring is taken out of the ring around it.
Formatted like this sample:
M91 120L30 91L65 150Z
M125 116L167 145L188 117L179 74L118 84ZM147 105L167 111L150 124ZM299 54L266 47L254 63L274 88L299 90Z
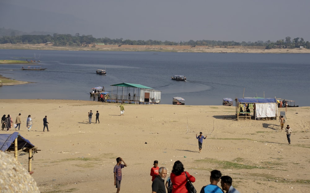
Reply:
M1 0L0 27L131 40L310 41L309 7L310 0Z

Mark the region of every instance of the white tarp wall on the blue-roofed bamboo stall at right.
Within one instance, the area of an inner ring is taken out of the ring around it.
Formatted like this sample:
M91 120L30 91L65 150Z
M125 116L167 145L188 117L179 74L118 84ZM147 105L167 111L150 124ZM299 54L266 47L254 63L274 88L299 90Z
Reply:
M256 118L276 117L278 114L277 103L255 103Z

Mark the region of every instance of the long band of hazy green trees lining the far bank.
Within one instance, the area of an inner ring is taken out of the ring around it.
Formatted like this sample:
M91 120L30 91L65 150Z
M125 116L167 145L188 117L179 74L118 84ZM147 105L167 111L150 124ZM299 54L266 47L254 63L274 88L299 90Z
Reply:
M304 41L303 38L286 37L285 40L278 40L276 42L268 41L255 41L255 42L236 42L236 41L215 41L215 40L197 40L197 41L158 41L158 40L124 40L104 38L94 38L92 35L81 35L76 33L74 36L71 34L58 34L51 35L20 35L20 36L2 36L0 44L48 44L52 43L53 46L95 46L95 44L106 45L190 45L195 46L264 46L265 49L274 48L304 48L310 49L309 41Z

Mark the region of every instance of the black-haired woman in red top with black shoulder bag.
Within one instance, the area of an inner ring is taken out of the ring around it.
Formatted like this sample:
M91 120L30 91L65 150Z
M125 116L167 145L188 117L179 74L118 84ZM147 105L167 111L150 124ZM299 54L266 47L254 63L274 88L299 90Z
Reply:
M196 179L194 176L191 176L188 172L186 172L186 175L189 181L195 182ZM182 162L176 161L174 163L170 178L173 185L172 193L188 193L185 186L187 179Z

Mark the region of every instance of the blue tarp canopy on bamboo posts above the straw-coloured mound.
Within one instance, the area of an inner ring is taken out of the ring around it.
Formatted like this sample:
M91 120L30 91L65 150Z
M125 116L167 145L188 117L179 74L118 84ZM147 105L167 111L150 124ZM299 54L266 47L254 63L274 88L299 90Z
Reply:
M28 139L22 137L18 132L12 134L0 134L0 150L15 151L14 140L17 138L17 150L27 152L27 150L34 148L34 145L30 143Z

